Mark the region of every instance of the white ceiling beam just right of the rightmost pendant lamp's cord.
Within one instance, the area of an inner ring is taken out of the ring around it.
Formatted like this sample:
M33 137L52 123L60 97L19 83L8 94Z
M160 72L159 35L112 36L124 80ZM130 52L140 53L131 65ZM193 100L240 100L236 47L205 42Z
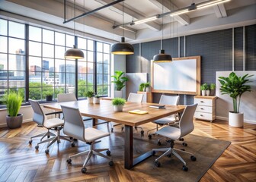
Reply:
M169 11L178 10L176 5L170 2L170 0L149 0L154 5L156 5L158 8L162 9L162 5L167 8ZM182 8L182 7L181 7ZM177 20L182 25L188 25L190 24L190 17L188 17L186 14L180 14L174 16L174 19Z

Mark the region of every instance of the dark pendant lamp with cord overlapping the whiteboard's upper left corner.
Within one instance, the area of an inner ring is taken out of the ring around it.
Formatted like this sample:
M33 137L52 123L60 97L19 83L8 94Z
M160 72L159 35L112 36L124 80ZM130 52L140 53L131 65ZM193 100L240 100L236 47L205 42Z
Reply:
M164 5L162 5L162 13L164 13ZM171 24L171 23L170 23ZM163 30L164 30L164 17L162 17L162 39L163 39ZM158 55L154 55L154 62L171 62L171 55L166 55L165 50L162 48L162 39L161 39L161 49Z

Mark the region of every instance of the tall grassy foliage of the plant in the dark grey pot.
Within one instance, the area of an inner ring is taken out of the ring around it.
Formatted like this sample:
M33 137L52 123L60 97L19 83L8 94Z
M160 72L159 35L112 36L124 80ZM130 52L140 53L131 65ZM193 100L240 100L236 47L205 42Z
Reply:
M9 94L5 94L4 98L8 115L11 117L17 116L23 100L21 93L12 91Z

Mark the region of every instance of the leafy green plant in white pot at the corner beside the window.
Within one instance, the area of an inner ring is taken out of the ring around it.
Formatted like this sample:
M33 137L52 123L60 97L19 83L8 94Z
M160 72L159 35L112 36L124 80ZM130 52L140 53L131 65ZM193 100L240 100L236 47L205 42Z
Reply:
M111 77L114 77L114 81L111 81L111 83L115 84L115 96L116 97L122 97L122 89L125 86L126 81L128 81L127 77L123 77L124 72L123 71L115 71L115 74Z

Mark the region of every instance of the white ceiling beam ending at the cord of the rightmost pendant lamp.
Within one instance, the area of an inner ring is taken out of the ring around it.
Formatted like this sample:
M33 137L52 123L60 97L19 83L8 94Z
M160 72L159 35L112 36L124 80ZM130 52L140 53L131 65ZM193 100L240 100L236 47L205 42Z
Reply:
M100 2L103 5L109 4L110 2L113 2L112 0L95 0L95 1ZM122 3L113 5L111 8L115 8L116 11L123 11L125 14L129 14L131 17L134 17L138 20L145 18L145 16L143 16L142 14L139 14L138 12L133 11L130 8L123 8ZM151 30L155 30L155 31L161 30L161 25L159 25L159 24L157 24L153 21L147 22L145 24Z

